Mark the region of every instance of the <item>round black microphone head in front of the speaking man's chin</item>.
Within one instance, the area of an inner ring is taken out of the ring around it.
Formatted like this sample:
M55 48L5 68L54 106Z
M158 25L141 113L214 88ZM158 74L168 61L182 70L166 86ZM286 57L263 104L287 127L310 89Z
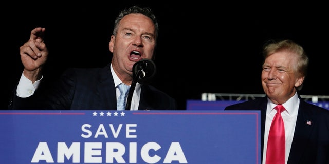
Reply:
M156 66L150 59L141 59L133 65L133 77L140 84L150 83L156 72Z

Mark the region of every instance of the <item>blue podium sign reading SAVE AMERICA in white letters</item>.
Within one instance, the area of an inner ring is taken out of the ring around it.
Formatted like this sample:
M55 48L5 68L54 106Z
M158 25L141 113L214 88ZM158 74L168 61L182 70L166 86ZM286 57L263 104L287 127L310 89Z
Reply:
M0 111L0 163L261 163L260 111Z

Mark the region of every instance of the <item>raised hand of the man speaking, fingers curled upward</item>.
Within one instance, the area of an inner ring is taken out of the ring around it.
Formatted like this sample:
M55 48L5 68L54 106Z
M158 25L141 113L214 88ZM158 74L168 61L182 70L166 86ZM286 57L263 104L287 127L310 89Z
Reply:
M20 47L24 75L34 83L42 76L42 66L46 63L48 49L44 43L45 28L37 27L31 31L30 39Z

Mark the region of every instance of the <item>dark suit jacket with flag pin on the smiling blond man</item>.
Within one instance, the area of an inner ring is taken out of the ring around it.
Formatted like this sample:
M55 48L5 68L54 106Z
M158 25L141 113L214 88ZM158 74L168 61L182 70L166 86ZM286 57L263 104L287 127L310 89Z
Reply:
M267 97L263 97L227 106L225 110L261 110L261 142L263 145L266 108ZM311 124L306 124L307 121L311 121ZM263 157L263 147L261 152ZM329 110L300 100L293 143L287 163L329 163Z

